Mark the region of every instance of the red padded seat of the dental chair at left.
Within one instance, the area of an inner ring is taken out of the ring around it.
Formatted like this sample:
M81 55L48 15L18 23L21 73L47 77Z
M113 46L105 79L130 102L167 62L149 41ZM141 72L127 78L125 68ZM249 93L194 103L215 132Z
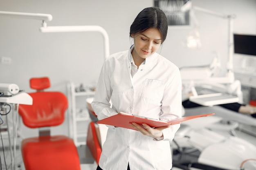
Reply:
M76 146L69 137L27 138L21 150L26 170L81 170Z

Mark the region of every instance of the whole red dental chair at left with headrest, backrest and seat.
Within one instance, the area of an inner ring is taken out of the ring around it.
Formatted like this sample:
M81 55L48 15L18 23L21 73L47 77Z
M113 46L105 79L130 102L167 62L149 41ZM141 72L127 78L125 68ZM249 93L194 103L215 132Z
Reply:
M28 93L32 105L19 105L19 114L25 126L38 128L39 136L22 140L21 152L26 170L81 170L79 155L73 139L50 134L51 126L61 125L67 110L67 97L61 92L46 92L48 77L30 79Z

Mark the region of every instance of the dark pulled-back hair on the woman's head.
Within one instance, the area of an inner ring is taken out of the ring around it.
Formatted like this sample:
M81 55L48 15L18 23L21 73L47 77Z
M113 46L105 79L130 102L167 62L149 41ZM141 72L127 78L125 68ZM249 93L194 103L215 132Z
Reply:
M142 33L149 28L156 28L162 35L162 43L166 39L168 23L165 13L158 7L143 9L130 26L130 37L132 34Z

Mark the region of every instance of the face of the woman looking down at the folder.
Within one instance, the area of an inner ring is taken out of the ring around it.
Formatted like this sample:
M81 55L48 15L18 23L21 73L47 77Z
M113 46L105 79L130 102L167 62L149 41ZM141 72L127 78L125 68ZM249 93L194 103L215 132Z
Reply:
M150 28L142 33L132 35L134 38L134 49L132 57L146 59L155 53L162 43L162 35L158 29Z

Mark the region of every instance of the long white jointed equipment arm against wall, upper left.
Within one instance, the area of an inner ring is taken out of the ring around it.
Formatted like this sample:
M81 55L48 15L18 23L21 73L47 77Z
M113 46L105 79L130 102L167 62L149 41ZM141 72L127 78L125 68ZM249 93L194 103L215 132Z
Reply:
M0 16L14 17L14 18L27 18L42 20L42 27L40 27L40 32L42 33L64 33L64 32L99 32L103 35L104 39L104 56L105 58L109 56L109 38L108 33L101 26L47 26L46 21L52 20L51 14L45 13L22 13L22 12L9 12L0 11Z

